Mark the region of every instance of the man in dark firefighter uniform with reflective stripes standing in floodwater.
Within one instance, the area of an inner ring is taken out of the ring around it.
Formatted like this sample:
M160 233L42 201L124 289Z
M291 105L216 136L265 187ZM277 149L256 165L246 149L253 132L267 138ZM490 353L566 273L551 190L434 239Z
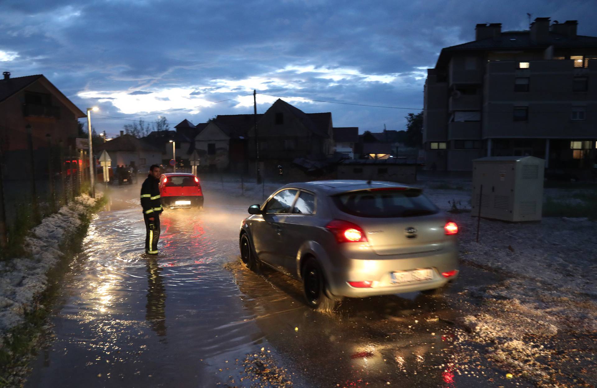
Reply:
M162 213L162 202L159 199L160 168L154 164L149 168L149 175L141 186L141 207L145 220L145 253L158 254L159 214Z

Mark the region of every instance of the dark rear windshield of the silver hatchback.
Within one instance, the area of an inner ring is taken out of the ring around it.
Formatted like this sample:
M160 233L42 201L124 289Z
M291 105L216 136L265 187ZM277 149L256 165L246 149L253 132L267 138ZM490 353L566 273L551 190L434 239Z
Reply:
M336 206L344 213L359 217L416 217L438 213L419 190L361 191L336 195Z

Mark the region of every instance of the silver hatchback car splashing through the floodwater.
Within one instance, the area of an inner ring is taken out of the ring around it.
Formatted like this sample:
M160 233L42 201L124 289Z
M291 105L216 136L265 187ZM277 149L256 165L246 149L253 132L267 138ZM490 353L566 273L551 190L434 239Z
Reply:
M291 183L241 224L241 260L303 282L307 304L436 290L458 276L458 226L399 183Z

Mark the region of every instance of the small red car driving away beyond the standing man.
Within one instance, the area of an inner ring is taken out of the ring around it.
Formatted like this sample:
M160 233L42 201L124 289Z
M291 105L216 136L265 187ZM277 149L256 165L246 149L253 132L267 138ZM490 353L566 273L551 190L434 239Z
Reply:
M162 174L159 177L159 195L164 208L203 208L201 184L193 174Z

